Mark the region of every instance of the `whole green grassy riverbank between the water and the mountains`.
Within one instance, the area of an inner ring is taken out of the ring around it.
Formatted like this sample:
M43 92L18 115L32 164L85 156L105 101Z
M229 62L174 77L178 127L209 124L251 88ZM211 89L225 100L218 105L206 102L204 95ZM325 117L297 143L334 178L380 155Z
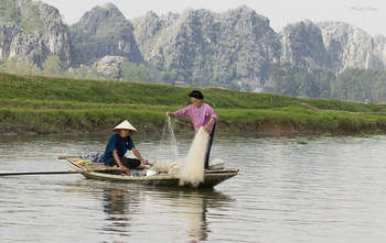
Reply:
M192 88L0 74L1 133L107 132L124 119L159 133L165 111L190 103ZM218 131L245 134L386 132L386 106L204 89ZM184 122L189 122L187 119ZM178 123L179 131L191 128Z

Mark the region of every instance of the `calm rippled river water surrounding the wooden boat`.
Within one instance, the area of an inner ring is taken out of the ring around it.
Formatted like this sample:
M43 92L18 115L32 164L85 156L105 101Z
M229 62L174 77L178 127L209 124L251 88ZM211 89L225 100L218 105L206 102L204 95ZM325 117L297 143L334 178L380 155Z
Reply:
M0 170L66 170L57 156L107 139L2 137ZM168 157L133 139L144 157ZM191 141L178 142L183 155ZM386 136L217 137L212 158L240 173L213 190L0 177L0 242L385 242L385 147Z

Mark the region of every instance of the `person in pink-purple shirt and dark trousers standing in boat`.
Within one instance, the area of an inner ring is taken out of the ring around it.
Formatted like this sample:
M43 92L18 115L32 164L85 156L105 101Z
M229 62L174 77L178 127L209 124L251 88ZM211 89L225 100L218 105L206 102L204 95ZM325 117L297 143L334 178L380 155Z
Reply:
M197 132L201 126L210 134L207 142L207 150L205 155L205 168L210 166L210 155L212 148L212 142L214 137L214 131L216 128L217 114L212 107L204 102L204 96L200 90L193 90L189 93L193 104L187 106L184 109L175 112L167 112L167 115L178 118L190 115L194 130Z

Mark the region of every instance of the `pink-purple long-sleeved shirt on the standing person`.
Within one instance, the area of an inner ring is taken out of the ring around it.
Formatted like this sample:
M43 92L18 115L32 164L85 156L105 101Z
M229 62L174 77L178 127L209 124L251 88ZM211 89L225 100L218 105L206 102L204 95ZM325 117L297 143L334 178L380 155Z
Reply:
M191 104L182 110L175 111L173 114L175 118L190 115L195 131L199 131L201 126L205 125L211 120L211 118L214 118L215 122L217 121L217 114L207 103L201 104L200 108L197 108L194 104ZM213 131L213 125L214 122L211 125L211 133Z

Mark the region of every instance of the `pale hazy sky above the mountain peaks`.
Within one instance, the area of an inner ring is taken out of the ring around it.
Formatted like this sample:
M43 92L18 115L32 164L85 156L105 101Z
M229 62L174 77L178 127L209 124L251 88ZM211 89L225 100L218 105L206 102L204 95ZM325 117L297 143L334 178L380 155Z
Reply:
M311 21L343 21L363 29L372 35L386 35L385 0L42 0L57 8L68 24L95 5L112 2L127 19L143 15L147 11L158 14L182 13L184 9L208 9L223 12L239 5L248 5L267 16L274 30L280 31L288 23Z

